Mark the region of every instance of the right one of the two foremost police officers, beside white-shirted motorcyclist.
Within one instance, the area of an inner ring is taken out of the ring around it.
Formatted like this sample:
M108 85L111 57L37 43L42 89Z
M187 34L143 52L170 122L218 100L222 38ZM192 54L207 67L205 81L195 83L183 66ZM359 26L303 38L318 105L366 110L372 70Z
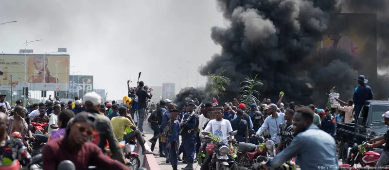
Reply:
M186 151L186 162L188 165L183 170L193 170L193 162L195 159L195 127L198 123L198 116L194 112L195 103L189 102L186 107L188 113L185 114L180 126L182 128L182 142Z

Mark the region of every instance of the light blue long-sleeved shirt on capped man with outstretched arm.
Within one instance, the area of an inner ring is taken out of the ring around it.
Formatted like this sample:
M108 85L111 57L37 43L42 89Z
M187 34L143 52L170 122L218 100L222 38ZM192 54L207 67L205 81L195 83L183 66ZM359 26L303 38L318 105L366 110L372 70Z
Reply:
M257 135L261 136L262 133L265 131L265 129L269 130L270 136L273 137L274 134L280 133L280 124L285 123L285 119L283 118L285 116L284 113L277 113L277 117L274 118L272 115L268 116L265 119L264 124L258 129ZM274 143L278 144L280 143L280 136L275 136L273 139Z

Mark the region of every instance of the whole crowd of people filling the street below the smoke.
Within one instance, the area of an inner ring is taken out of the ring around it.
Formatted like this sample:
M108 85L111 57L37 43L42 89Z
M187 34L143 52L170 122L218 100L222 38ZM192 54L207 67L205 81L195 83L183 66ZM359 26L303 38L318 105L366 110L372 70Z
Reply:
M87 170L89 165L128 169L118 141L128 143L136 137L142 154L151 154L145 148L143 138L143 122L148 118L154 131L149 140L151 151L158 141L159 156L166 157L166 163L171 162L173 170L177 170L178 161L187 163L183 170L194 169L202 141L209 138L201 132L210 132L225 141L232 131L237 131L233 138L238 142L258 144L258 140L253 140L254 136L273 140L279 154L264 164L264 169L276 168L293 157L302 169L337 167L333 138L336 124L353 122L357 110L354 107L372 99L371 88L364 84L364 77L359 76L354 99L348 102L337 99L336 108L319 109L313 104L297 106L295 102L283 104L283 95L277 103L265 98L258 105L233 99L219 106L212 102L199 103L194 98L178 108L169 99L149 104L152 88L142 81L137 87L130 87L129 82L128 95L122 103L104 102L100 95L90 92L85 94L83 101L76 97L74 102L65 103L58 97L55 100L50 97L26 109L21 100L11 106L5 100L6 95L0 95L0 142L8 144L0 148L10 147L16 152L3 153L0 158L18 159L22 165L29 163L32 148L28 141L34 138L32 131L40 130L49 136L43 149L45 170L56 169L63 160L71 160L77 170ZM253 129L255 135L250 136L249 129ZM208 165L211 159L212 155L207 153L203 165ZM201 166L201 170L208 169L209 166Z

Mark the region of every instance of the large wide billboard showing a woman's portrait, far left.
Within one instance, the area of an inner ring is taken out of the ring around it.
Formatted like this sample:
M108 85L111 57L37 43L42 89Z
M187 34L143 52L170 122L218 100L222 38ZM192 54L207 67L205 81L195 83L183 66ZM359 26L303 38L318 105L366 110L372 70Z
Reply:
M10 90L11 86L15 89L31 86L31 90L65 89L69 82L69 57L68 54L0 54L0 71L3 72L0 90Z

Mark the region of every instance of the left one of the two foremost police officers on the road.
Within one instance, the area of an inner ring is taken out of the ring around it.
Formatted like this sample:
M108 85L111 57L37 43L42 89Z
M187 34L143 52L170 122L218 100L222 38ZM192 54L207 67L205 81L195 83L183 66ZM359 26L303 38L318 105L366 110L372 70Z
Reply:
M172 109L170 110L170 120L168 122L169 130L167 132L167 148L169 150L169 159L172 163L173 170L177 170L178 159L178 135L180 131L178 118L178 110Z

